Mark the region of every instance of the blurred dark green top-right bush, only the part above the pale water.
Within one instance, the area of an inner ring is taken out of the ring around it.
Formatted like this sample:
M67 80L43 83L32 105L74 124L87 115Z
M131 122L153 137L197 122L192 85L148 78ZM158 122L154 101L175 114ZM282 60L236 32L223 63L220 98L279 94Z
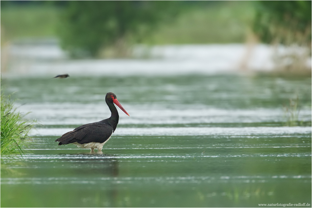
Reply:
M311 45L311 1L258 1L254 31L266 43Z

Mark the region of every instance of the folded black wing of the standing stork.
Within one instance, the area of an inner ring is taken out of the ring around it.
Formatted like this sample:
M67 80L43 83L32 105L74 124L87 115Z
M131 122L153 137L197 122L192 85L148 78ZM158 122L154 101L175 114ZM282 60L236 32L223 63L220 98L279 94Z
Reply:
M59 145L74 142L77 142L79 144L85 144L90 142L103 143L108 138L110 138L113 130L113 127L108 123L88 123L75 128L73 131L63 134L55 141L60 142Z

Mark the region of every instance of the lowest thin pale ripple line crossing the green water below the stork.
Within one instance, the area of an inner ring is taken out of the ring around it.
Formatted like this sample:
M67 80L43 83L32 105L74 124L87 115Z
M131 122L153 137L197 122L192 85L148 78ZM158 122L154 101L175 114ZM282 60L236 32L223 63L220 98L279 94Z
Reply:
M278 179L310 179L309 175L276 175L276 176L200 176L200 177L94 177L92 179L85 177L43 177L43 178L1 178L1 185L19 185L19 184L100 184L110 182L113 184L131 184L131 183L225 183L243 182L243 183L263 183ZM307 181L308 182L308 181Z

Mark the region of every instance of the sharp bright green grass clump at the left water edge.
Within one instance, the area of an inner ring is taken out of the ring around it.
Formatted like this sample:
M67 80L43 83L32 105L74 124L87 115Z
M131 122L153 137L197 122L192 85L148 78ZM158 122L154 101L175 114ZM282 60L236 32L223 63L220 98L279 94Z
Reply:
M21 146L29 139L27 133L32 124L27 124L16 109L10 96L1 94L1 157L23 153Z

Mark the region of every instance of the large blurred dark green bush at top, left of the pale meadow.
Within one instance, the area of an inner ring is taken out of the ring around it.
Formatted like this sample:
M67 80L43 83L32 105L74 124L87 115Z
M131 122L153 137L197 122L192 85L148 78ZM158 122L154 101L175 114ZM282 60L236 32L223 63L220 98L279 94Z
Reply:
M74 56L110 46L127 35L145 36L175 17L178 1L69 1L62 15L61 46Z

